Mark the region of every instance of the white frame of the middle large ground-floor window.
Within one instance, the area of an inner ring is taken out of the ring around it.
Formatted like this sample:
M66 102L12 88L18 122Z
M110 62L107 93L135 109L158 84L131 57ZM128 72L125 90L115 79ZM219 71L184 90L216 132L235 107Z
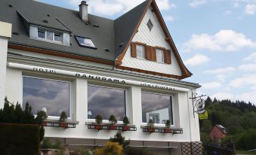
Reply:
M109 88L109 89L116 89L116 90L125 90L125 116L128 117L128 89L125 88L120 88L120 87L109 87L109 86L104 86L104 85L99 85L99 84L88 84L87 85L92 86L92 87L103 87L103 88ZM87 94L88 97L88 94ZM88 102L87 102L88 104ZM89 111L89 109L88 109ZM87 111L87 116L88 116L88 111ZM115 115L115 114L114 114ZM110 116L110 115L109 115ZM115 115L116 116L116 115ZM95 122L94 118L88 119L89 122ZM102 120L102 123L109 123L109 120ZM123 123L122 120L118 120L117 123Z

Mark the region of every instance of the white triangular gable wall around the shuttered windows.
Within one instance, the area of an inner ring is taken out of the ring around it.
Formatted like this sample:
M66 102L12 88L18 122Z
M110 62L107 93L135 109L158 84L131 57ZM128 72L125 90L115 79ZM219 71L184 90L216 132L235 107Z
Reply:
M147 27L147 22L149 20L151 20L151 22L153 23L153 29L151 29L151 31ZM170 45L168 44L167 41L165 41L165 34L162 31L162 27L159 24L156 14L150 11L150 9L147 10L147 13L143 17L138 32L134 35L132 41L142 42L153 47L165 47L166 49L171 50ZM124 59L122 60L122 66L130 68L139 68L147 71L156 71L164 74L182 74L180 66L177 63L177 59L175 58L173 51L171 51L171 64L164 64L131 57L130 46L128 47L128 50L125 53Z

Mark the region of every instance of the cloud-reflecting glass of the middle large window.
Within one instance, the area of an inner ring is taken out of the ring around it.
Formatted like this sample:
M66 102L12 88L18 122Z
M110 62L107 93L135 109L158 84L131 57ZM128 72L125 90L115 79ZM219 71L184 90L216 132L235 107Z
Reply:
M117 120L125 116L125 90L110 87L88 86L88 117L100 114L108 120L111 114Z

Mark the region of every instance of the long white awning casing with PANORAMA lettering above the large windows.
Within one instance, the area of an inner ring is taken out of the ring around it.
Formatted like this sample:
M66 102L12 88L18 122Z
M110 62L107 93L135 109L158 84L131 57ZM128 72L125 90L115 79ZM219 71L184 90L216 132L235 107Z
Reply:
M76 72L76 71L66 71L66 70L60 70L55 68L45 68L45 67L39 67L35 65L24 65L24 64L13 63L13 62L8 62L8 67L20 68L24 70L36 71L36 72L42 72L42 73L48 73L48 74L62 74L62 75L76 77L76 78L86 78L86 79L97 80L97 81L106 81L106 82L119 83L119 84L131 84L131 85L136 85L141 87L150 87L150 88L157 88L162 90L176 90L180 92L189 91L187 88L181 88L181 87L171 87L171 86L166 86L162 84L151 84L151 83L142 82L142 81L131 81L131 80L122 79L122 78L113 78L113 77L82 73L82 72Z

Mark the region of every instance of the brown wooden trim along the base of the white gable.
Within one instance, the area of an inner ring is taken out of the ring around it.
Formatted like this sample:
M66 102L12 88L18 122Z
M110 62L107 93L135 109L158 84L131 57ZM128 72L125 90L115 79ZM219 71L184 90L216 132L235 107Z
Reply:
M146 70L138 69L138 68L124 67L124 66L121 66L121 65L116 65L116 68L122 69L122 70L125 70L125 71L134 71L134 72L144 73L144 74L153 74L153 75L157 75L157 76L165 77L165 78L175 78L175 79L178 79L178 80L181 80L181 79L184 78L183 75L179 76L179 75L174 75L174 74L164 74L164 73L159 73L159 72L156 72L156 71L146 71Z

